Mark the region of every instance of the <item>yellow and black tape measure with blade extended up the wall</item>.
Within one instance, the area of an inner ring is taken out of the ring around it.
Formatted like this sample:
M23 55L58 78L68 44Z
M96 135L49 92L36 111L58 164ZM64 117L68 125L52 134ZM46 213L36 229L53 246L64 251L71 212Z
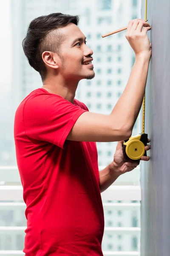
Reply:
M147 0L145 0L145 20L147 20ZM142 133L125 140L122 145L123 154L127 162L141 160L142 156L147 156L144 147L147 145L147 134L144 133L145 117L145 92L142 109Z

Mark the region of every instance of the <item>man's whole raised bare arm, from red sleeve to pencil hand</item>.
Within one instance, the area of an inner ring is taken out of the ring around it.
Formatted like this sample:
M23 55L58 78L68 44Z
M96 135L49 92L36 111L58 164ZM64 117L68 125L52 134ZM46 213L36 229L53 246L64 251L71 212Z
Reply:
M142 106L151 57L148 30L149 23L139 19L130 20L126 38L136 54L136 60L122 96L110 115L82 113L67 140L110 142L125 140L131 136Z

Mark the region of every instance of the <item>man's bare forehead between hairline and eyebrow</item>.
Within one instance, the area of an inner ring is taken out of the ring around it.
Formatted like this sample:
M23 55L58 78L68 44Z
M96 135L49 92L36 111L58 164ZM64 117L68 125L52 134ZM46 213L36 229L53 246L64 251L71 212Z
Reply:
M70 44L76 38L85 38L85 35L82 33L79 27L76 26L74 23L70 23L65 27L59 28L59 32L61 32L63 35L64 44L67 44L67 43Z

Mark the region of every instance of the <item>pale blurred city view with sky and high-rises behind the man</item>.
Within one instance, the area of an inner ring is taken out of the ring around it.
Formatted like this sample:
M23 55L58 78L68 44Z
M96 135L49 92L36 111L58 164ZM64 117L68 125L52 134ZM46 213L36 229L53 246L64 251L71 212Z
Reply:
M126 31L106 38L101 35L127 26L131 19L141 18L141 0L2 0L0 9L0 185L20 185L13 138L14 113L28 93L42 86L39 73L29 66L22 49L28 24L35 17L52 12L79 15L79 28L94 51L96 76L79 82L76 99L84 102L89 111L109 114L127 84L135 55L125 38ZM139 132L142 132L140 116L133 134ZM97 143L99 166L111 163L116 144ZM140 168L125 175L122 181L118 179L116 184L139 184L139 172ZM26 226L25 206L20 203L15 208L1 204L1 227ZM109 227L140 227L140 202L106 200L103 203L105 227L108 227L103 251L138 252L140 232L115 233ZM125 203L131 207L123 208L121 204ZM23 244L24 230L22 233L0 231L0 250L23 250Z

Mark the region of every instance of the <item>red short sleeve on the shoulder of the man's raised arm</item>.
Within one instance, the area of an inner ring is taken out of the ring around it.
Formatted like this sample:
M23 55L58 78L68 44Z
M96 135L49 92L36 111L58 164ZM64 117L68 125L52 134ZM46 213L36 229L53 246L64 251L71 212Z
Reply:
M69 132L86 111L55 94L33 96L23 108L26 135L64 148Z

